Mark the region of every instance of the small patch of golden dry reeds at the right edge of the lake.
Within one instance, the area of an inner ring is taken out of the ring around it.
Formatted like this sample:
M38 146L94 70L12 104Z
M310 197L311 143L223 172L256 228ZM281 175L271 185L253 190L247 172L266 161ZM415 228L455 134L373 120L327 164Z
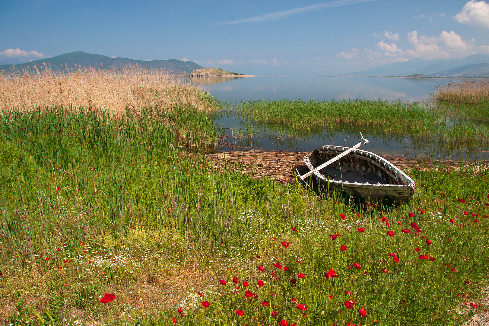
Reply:
M435 87L431 96L437 101L467 104L487 103L489 102L489 81L450 82Z

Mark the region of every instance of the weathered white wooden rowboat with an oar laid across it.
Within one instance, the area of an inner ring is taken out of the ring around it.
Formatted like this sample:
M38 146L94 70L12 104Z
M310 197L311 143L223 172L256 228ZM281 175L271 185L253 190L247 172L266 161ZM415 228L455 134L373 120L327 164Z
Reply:
M345 191L366 201L407 202L414 196L414 181L386 159L358 147L324 145L304 156L310 175L329 190Z

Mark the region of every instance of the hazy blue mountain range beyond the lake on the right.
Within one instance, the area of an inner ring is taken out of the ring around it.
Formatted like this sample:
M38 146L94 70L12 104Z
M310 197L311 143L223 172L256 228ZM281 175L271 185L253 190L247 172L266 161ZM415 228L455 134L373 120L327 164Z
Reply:
M462 59L414 58L406 62L395 62L364 71L355 71L343 76L403 77L426 75L428 77L489 77L489 55L472 54Z

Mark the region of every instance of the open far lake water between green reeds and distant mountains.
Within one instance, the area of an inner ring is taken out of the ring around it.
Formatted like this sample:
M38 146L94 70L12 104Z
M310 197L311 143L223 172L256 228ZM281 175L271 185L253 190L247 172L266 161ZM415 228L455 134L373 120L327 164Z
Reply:
M203 79L204 88L229 102L263 98L317 99L363 98L402 101L428 100L433 88L461 79L377 78L326 76L256 76Z

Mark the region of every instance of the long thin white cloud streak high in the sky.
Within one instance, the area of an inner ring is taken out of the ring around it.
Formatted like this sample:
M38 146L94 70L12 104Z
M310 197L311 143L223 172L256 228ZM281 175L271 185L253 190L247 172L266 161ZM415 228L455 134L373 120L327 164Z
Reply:
M293 15L304 14L307 12L316 11L316 10L320 10L320 9L339 7L339 6L344 6L347 4L355 4L355 3L367 2L367 1L373 1L373 0L335 0L335 1L330 1L330 2L326 2L326 3L311 4L310 6L289 9L286 11L272 12L272 13L264 14L264 15L260 15L260 16L243 18L243 19L239 19L236 21L220 22L220 23L216 23L216 24L217 25L229 25L229 24L239 24L239 23L276 21L279 19L284 19L284 18L293 16Z

